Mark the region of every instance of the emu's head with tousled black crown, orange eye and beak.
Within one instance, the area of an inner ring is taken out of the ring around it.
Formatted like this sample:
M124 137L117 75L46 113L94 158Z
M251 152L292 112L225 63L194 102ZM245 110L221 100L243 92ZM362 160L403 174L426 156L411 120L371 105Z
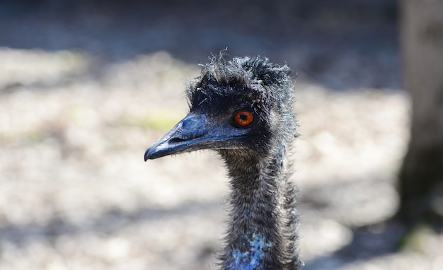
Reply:
M292 141L291 70L266 58L212 59L188 84L190 112L146 150L144 159L200 149L265 156Z

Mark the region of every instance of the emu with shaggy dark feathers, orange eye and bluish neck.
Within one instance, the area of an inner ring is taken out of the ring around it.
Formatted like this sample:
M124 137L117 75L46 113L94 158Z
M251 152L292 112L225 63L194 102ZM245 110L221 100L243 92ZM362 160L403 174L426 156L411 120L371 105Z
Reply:
M263 57L221 53L188 83L188 115L144 160L212 149L229 172L230 223L219 255L226 270L301 269L288 153L297 137L291 69Z

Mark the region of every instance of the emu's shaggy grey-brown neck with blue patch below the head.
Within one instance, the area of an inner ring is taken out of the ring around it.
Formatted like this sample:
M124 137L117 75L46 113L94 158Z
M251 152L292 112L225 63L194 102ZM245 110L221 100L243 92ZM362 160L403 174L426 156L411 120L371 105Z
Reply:
M231 223L222 269L301 269L297 252L297 211L286 149L260 157L221 150L231 176ZM270 157L271 156L271 157Z

